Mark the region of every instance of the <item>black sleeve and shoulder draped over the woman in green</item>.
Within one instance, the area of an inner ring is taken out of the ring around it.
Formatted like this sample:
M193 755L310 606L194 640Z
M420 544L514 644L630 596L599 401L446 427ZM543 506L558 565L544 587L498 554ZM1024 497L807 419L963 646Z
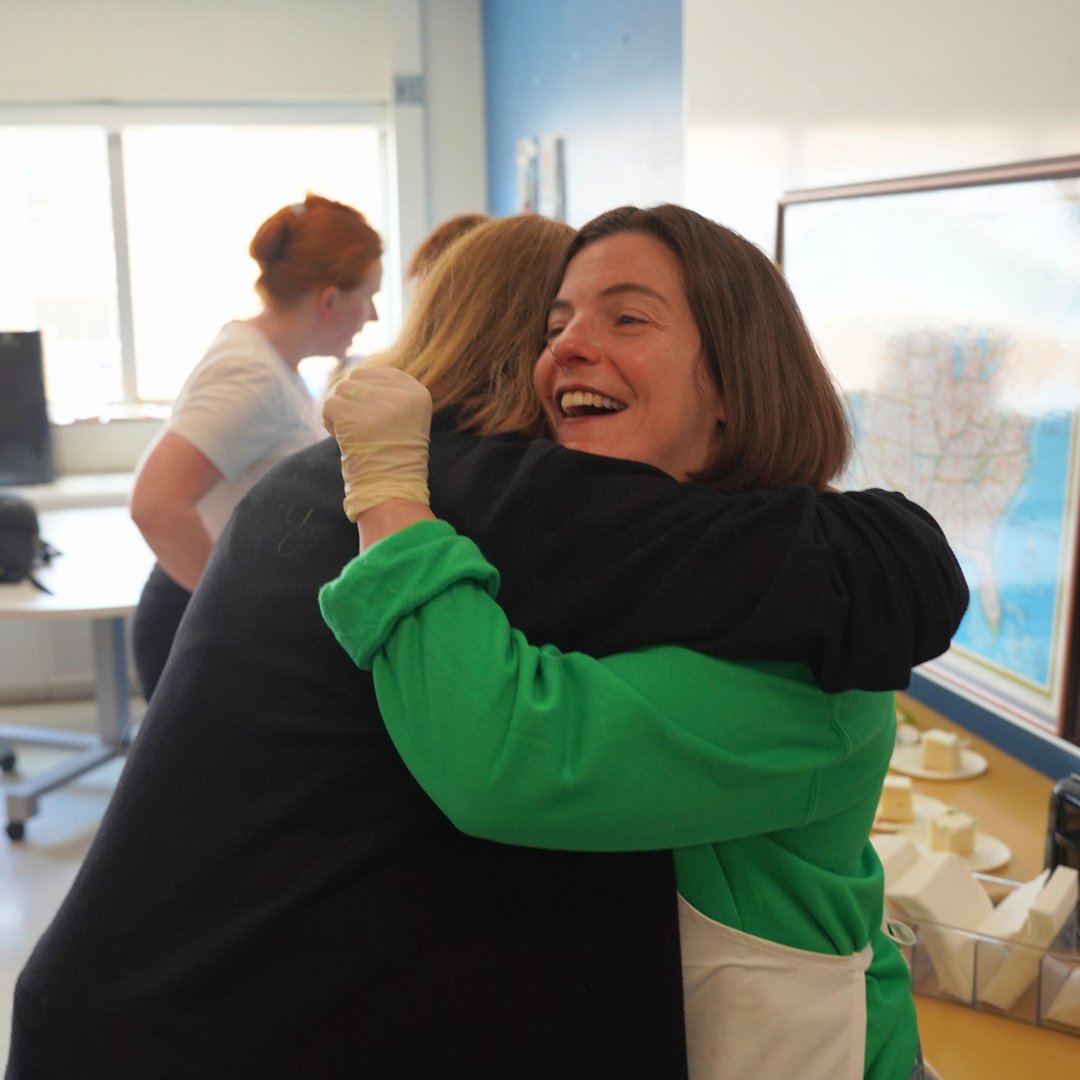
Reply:
M829 691L903 689L968 605L937 523L896 492L717 495L545 440L455 433L446 415L431 489L499 567L515 624L564 649L680 644L808 663Z

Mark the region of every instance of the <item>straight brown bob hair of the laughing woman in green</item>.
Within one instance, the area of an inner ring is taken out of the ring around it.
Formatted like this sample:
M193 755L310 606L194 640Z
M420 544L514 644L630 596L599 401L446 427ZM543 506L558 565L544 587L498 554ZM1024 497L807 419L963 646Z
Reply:
M665 204L622 206L593 218L570 244L567 264L589 244L624 232L652 237L678 259L702 369L724 401L716 454L692 478L720 491L825 487L847 464L851 430L773 262L731 229Z

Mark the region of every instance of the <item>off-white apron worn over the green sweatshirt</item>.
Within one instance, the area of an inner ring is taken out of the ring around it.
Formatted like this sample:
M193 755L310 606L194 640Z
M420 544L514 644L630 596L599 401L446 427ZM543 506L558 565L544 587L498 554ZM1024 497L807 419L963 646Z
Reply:
M862 1080L869 945L809 953L678 905L690 1080Z

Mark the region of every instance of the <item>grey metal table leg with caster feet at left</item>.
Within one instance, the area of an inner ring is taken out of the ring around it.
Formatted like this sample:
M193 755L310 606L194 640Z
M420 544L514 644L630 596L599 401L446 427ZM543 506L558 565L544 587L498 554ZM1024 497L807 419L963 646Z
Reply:
M27 728L0 728L0 734L43 746L85 747L67 761L8 792L8 836L21 840L26 821L38 812L38 799L48 792L77 780L83 773L123 754L131 741L129 723L127 654L122 618L95 619L94 665L96 670L97 737L77 732L35 733Z

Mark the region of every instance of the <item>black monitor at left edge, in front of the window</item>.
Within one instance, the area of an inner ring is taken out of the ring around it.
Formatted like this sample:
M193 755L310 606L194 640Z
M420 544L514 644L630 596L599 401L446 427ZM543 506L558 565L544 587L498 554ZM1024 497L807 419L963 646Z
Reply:
M0 330L0 485L48 484L53 443L39 330Z

